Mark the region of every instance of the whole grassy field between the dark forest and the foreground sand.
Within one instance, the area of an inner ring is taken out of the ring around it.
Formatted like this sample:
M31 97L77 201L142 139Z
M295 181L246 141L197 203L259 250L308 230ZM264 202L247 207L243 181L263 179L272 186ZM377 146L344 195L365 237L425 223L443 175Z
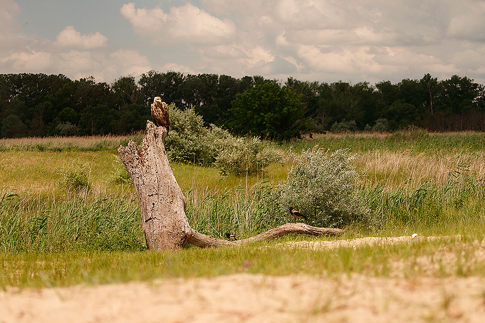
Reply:
M141 135L131 138L139 142ZM314 135L282 144L287 153L318 144L332 151L349 147L356 154L356 166L366 174L360 194L376 225L349 227L356 234L344 238L413 232L451 236L412 245L321 251L265 247L315 239L293 235L236 248L144 251L138 201L116 153L128 139L0 139L0 286L237 272L403 277L484 273L483 257L474 255L483 251L485 134L428 134L412 129L394 134ZM214 237L227 231L247 237L292 221L289 216L268 217L258 204L261 196L286 180L291 168L290 158L286 160L284 166L271 165L264 175L248 177L222 177L216 168L172 163L189 202L191 226ZM89 186L68 189L66 183L76 174L84 174ZM464 236L459 243L454 238L457 234ZM420 259L431 260L421 265Z

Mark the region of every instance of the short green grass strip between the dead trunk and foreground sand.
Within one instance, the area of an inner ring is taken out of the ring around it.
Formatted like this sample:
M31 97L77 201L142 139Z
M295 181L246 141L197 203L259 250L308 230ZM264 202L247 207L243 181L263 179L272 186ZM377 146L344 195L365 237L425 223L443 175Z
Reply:
M90 285L235 273L333 278L363 274L406 279L483 275L482 239L450 237L358 249L307 250L275 246L290 240L283 238L265 244L183 251L0 253L0 287Z

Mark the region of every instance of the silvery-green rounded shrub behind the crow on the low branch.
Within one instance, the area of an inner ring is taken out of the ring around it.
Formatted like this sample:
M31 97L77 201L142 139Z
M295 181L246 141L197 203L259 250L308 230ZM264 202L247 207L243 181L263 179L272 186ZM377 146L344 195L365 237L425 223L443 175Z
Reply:
M286 183L280 185L281 209L293 207L306 215L312 225L339 227L356 221L367 222L370 209L357 189L361 175L352 165L349 149L333 153L318 149L290 152L293 165Z

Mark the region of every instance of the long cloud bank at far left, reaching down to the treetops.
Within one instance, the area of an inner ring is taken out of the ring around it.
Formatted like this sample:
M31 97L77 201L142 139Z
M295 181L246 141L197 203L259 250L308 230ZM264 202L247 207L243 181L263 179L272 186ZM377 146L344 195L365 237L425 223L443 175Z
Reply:
M72 79L93 75L98 82L111 82L151 69L148 58L137 50L111 50L100 32L82 35L67 26L54 42L26 34L15 19L18 5L9 0L0 3L0 73L64 74Z

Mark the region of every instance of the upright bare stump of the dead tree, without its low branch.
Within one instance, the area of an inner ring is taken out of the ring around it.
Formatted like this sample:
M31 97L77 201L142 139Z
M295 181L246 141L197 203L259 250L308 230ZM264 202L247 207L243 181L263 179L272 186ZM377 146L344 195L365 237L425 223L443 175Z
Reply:
M185 215L187 202L163 145L167 130L151 121L147 122L146 130L141 151L131 140L126 147L120 146L118 153L140 201L146 247L152 250L181 249L187 243L190 226Z

